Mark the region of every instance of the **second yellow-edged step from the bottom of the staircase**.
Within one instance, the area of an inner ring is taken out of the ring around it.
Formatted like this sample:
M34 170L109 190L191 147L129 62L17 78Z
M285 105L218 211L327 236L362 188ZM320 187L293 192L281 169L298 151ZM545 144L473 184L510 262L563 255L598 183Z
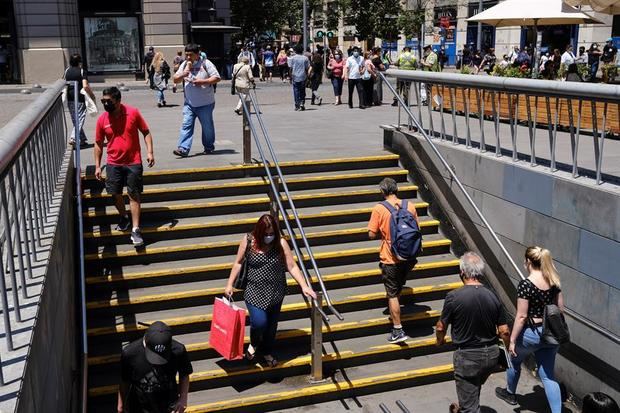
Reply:
M364 351L344 350L334 353L323 354L323 368L331 370L349 366L359 366L372 362L385 360L395 360L415 356L428 355L452 349L451 339L446 339L446 344L436 345L434 338L430 339L410 339L399 344L384 344L370 347ZM276 367L266 367L259 363L254 365L239 365L239 362L231 362L226 369L217 368L213 370L194 372L190 376L191 391L212 389L222 386L229 386L243 380L269 379L274 376L281 377L301 375L310 373L310 355L298 356L292 359L280 359ZM235 365L236 364L236 365ZM89 389L89 397L102 397L115 395L118 391L117 385L98 386Z

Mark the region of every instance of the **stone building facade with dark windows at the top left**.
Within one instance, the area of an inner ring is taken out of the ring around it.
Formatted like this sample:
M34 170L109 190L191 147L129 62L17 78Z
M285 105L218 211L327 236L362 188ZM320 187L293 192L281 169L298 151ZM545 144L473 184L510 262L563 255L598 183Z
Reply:
M235 31L229 0L0 0L0 11L4 83L49 83L76 52L91 77L136 78L149 46L171 62L188 42L223 68Z

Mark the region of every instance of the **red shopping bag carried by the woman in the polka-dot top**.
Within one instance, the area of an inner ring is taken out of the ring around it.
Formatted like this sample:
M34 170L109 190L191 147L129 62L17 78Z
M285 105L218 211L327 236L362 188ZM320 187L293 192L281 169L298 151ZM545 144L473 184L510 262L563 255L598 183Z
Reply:
M226 360L243 358L245 336L245 310L226 298L216 298L213 303L209 344Z

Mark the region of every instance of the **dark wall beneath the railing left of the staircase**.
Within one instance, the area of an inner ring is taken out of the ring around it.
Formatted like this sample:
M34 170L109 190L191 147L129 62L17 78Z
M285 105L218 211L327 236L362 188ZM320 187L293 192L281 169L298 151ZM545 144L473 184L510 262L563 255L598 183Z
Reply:
M78 411L80 333L76 315L78 271L73 171L70 168L66 175L17 413Z

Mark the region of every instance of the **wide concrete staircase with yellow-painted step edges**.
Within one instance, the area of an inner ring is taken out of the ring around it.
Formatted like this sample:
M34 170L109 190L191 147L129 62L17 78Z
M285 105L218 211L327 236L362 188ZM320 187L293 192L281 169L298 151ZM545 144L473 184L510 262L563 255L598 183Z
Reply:
M290 277L277 367L227 362L208 344L211 306L223 294L239 241L269 210L262 166L145 174L146 244L139 250L130 245L128 233L113 229L119 217L111 198L86 177L89 411L115 411L121 348L155 320L168 323L189 352L194 367L190 412L271 411L451 379L451 347L435 346L431 326L446 293L460 286L458 261L398 157L285 162L281 167L330 297L345 317L332 317L323 328L329 380L307 381L309 308ZM399 182L401 198L416 203L424 232L423 256L401 301L411 336L404 345L386 341L391 324L377 265L379 243L369 241L366 230L370 211L381 200L378 183L385 177ZM242 301L240 294L235 298Z

